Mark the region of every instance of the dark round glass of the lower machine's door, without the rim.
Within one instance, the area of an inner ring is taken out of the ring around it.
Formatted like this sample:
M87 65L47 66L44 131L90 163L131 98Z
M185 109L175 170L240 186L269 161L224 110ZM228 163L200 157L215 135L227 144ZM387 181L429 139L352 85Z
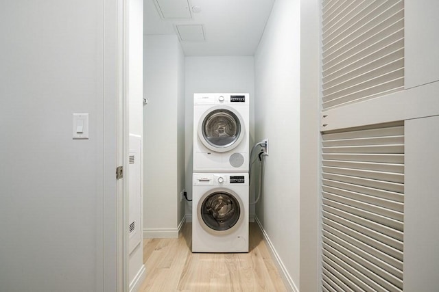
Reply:
M198 212L205 228L215 231L230 230L241 217L237 198L226 191L215 191L205 196Z

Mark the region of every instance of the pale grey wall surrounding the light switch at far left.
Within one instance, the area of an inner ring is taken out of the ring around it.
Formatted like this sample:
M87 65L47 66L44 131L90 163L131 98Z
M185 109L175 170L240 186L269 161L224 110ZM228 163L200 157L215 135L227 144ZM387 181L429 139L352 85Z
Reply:
M1 291L116 291L116 3L2 1Z

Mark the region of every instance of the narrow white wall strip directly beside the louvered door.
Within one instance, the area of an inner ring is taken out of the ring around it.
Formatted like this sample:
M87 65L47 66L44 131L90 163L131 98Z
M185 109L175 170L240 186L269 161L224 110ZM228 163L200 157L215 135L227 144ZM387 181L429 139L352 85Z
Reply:
M300 0L300 291L318 291L320 0Z

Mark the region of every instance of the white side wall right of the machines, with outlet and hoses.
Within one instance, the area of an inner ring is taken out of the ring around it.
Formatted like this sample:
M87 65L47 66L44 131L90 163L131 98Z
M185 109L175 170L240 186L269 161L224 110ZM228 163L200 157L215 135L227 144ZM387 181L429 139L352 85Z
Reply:
M300 260L300 5L277 0L254 56L255 138L269 140L261 222L292 289ZM295 286L295 287L294 287Z

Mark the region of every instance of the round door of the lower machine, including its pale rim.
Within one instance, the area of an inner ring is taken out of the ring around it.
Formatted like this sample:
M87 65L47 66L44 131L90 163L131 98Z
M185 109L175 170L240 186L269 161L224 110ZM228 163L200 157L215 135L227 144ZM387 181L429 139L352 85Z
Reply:
M213 189L198 202L198 221L215 235L233 233L244 218L241 199L230 189Z

